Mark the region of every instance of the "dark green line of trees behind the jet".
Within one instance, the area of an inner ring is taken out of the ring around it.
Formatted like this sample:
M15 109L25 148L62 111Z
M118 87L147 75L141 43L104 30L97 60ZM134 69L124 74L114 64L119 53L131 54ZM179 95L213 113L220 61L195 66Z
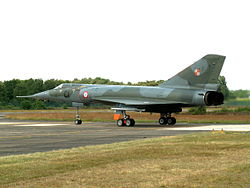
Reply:
M61 83L82 83L82 84L110 84L110 85L137 85L137 86L157 86L161 84L163 80L159 81L145 81L132 84L131 82L115 82L109 79L100 77L96 78L83 78L72 80L42 80L42 79L28 79L19 80L13 79L4 82L0 82L0 109L47 109L54 107L67 107L70 104L60 102L46 102L33 99L17 99L16 96L32 95L45 90L53 89ZM220 77L220 90L224 93L225 98L230 97L248 97L247 90L229 91L226 85L225 77Z

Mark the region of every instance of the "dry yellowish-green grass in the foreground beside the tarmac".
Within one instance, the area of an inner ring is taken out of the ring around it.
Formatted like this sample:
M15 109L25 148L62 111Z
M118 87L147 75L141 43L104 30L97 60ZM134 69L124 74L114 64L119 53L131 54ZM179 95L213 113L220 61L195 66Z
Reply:
M250 133L0 157L0 187L250 187Z

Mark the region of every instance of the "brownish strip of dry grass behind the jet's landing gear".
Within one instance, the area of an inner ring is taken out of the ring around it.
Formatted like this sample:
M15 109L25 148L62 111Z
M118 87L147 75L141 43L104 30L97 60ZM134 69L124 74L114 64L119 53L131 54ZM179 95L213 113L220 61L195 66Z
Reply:
M81 118L83 121L101 121L112 122L112 111L81 111ZM158 122L159 114L150 113L136 113L129 112L136 122ZM187 123L250 123L250 115L240 113L226 113L226 114L204 114L204 115L190 115L190 114L174 114L177 122ZM14 113L7 115L10 119L19 120L55 120L55 121L73 121L74 111L32 111L32 113Z

